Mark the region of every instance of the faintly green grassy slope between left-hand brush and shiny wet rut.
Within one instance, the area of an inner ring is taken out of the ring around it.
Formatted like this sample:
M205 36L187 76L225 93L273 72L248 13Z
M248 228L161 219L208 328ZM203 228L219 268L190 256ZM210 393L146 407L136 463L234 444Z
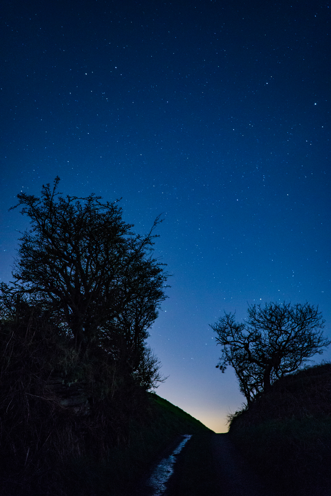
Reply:
M65 494L131 495L154 463L175 447L180 434L209 432L199 420L169 401L147 394L145 421L132 421L129 444L113 448L102 462L73 460L66 470Z

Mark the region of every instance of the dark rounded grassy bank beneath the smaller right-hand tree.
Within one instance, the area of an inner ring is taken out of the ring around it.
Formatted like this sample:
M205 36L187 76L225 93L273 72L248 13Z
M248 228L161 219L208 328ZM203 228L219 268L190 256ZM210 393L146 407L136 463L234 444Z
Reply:
M229 433L282 494L330 495L331 364L277 380L234 415Z

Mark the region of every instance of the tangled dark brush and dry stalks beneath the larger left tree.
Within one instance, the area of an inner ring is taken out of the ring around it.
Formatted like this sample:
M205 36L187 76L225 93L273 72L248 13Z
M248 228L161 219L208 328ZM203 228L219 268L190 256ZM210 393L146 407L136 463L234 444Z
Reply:
M120 363L101 349L79 356L37 308L23 305L15 318L2 320L0 353L5 494L54 486L73 459L105 459L113 446L129 442L130 420L142 418L148 405Z

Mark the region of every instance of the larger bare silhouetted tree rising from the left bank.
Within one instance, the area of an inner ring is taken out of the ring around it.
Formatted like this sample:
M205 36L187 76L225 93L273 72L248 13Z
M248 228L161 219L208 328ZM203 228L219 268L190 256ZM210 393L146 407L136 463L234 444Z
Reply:
M60 178L41 197L19 193L31 228L20 238L15 291L63 317L78 349L124 346L132 370L143 356L147 329L157 317L167 273L151 257L153 234L133 234L116 202L61 196Z

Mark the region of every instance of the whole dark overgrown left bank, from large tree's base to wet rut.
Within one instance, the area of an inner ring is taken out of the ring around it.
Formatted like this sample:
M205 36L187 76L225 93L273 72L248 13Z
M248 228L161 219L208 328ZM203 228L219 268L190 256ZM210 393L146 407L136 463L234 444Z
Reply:
M206 430L37 310L0 326L0 494L132 494L179 434Z

